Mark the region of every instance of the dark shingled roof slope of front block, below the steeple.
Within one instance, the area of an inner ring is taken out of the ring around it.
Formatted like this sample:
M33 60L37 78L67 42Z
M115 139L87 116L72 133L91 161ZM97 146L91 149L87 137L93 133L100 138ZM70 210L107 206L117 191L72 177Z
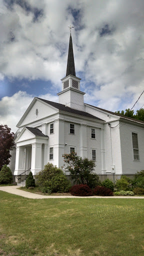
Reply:
M36 97L38 98L38 97ZM43 99L43 98L38 98L42 101L44 101L45 103L51 105L51 106L54 106L55 108L61 110L61 111L64 111L64 112L68 112L68 113L73 113L73 114L78 114L78 115L82 115L82 116L85 116L85 117L90 117L90 118L94 118L94 119L97 119L97 120L101 120L101 121L104 121L92 114L89 114L87 112L84 112L84 111L81 111L81 110L77 110L77 109L74 109L74 108L71 108L69 106L65 106L63 104L60 104L60 103L57 103L57 102L53 102L53 101L49 101L49 100L46 100L46 99Z

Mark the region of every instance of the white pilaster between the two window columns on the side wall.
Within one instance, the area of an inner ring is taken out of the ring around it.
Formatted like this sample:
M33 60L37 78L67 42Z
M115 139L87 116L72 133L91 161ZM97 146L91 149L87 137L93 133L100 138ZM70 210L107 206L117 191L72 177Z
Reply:
M80 124L80 156L87 157L87 128L85 124Z

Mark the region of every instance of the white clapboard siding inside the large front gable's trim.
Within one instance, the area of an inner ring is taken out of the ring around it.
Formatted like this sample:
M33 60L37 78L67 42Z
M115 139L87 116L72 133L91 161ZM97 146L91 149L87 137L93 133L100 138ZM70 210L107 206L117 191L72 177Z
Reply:
M35 113L36 109L38 110L37 116ZM21 122L20 126L25 125L27 123L32 123L38 119L44 118L54 113L56 113L55 109L37 100L25 116L24 120Z

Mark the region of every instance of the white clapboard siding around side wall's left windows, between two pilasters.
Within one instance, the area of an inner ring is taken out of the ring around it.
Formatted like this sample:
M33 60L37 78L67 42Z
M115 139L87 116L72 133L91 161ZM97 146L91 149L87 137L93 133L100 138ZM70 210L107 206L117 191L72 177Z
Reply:
M69 134L69 126L72 122L64 122L64 153L69 153L70 147L76 147L77 155L80 156L80 124L74 123L74 134Z

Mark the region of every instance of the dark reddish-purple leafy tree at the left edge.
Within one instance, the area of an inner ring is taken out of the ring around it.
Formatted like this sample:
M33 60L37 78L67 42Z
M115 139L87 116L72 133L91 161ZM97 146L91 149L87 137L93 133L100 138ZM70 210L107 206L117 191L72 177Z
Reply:
M12 150L14 133L10 133L10 128L4 124L0 125L0 169L4 164L10 162L10 150Z

